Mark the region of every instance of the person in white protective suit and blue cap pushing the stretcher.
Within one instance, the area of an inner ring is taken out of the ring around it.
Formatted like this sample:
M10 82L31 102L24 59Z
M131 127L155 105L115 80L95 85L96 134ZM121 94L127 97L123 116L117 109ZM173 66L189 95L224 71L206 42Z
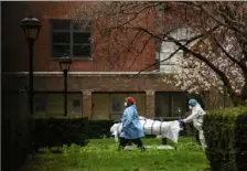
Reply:
M192 110L191 115L185 119L180 119L180 122L191 122L193 121L193 126L198 130L198 138L201 146L203 150L205 150L206 141L203 133L203 116L206 115L206 113L203 110L201 105L195 99L190 99L189 101L189 108Z

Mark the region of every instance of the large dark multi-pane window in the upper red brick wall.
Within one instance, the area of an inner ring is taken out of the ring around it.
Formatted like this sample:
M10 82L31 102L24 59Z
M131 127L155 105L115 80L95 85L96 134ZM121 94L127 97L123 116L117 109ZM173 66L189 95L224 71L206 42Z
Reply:
M52 57L69 55L73 58L90 58L92 22L51 20Z

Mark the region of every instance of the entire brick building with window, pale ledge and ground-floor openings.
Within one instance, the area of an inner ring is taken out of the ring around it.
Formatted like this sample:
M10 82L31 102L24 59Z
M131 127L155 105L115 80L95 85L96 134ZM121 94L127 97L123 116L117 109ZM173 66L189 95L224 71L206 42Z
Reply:
M127 96L137 99L141 116L178 116L179 108L185 113L185 93L164 83L163 73L152 73L155 68L151 67L131 77L155 62L154 42L151 41L144 50L150 53L143 52L130 70L127 65L110 70L97 55L93 55L92 44L85 40L92 36L94 26L80 32L67 17L67 7L76 9L82 3L2 3L2 72L8 83L6 87L20 90L29 85L28 44L20 22L32 14L42 23L34 45L35 115L63 115L64 78L57 58L64 53L74 58L68 73L68 115L88 116L90 119L119 119Z

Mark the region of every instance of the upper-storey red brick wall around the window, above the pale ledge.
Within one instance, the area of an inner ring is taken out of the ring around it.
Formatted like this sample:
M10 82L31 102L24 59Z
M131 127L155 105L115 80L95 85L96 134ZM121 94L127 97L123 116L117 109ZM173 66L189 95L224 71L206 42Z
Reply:
M33 14L42 23L39 40L34 44L34 71L60 71L57 61L51 60L50 19L69 19L67 15L69 10L76 10L79 6L83 6L83 1L2 2L2 71L23 72L29 70L28 44L20 28L22 19L29 14ZM96 31L93 33L97 34ZM75 61L71 71L140 71L154 63L154 42L150 41L143 54L138 56L131 68L129 66L135 58L131 54L122 58L119 66L117 64L109 65L107 57L109 57L107 54L105 58L93 54L93 61ZM117 67L111 68L112 65Z

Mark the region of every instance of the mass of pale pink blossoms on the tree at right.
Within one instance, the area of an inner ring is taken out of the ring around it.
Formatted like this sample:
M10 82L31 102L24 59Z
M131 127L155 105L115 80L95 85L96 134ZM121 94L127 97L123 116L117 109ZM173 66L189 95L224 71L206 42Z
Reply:
M223 30L218 33L223 33ZM216 34L216 32L214 33ZM221 36L221 44L215 42L215 38ZM225 36L225 38L223 38ZM212 40L211 40L212 39ZM207 40L196 42L191 50L198 51L201 55L205 56L217 70L223 72L227 77L227 84L235 90L240 93L245 85L245 76L240 67L230 60L232 56L239 56L241 54L234 38L225 35L211 35ZM221 45L221 46L218 46ZM224 46L224 49L223 49ZM227 57L226 55L230 55ZM235 60L235 58L233 58ZM217 89L224 93L225 84L222 78L212 67L198 58L195 58L190 53L180 58L181 66L179 74L174 75L176 85L189 93L200 93L210 89Z

